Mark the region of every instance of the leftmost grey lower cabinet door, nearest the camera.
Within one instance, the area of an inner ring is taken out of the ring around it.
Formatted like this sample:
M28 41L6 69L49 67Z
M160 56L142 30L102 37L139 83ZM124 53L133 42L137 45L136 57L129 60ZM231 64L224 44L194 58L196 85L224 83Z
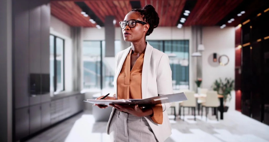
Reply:
M15 140L29 135L29 108L15 110Z

